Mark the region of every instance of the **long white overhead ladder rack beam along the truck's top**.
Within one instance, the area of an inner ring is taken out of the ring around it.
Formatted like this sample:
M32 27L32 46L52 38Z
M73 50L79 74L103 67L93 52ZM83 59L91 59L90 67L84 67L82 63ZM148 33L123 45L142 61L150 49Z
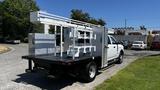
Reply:
M53 25L63 25L64 27L78 27L78 28L86 28L91 29L92 26L100 27L99 25L94 25L91 23L78 21L74 19L69 19L66 17L50 14L44 11L31 12L30 16L31 22L41 22L44 24L53 24Z

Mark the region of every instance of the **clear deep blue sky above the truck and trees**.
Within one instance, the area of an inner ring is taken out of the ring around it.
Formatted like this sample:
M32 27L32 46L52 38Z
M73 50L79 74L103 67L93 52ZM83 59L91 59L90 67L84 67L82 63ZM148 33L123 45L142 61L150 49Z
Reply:
M36 0L41 10L70 17L72 9L81 9L94 18L102 18L107 27L160 28L160 0Z

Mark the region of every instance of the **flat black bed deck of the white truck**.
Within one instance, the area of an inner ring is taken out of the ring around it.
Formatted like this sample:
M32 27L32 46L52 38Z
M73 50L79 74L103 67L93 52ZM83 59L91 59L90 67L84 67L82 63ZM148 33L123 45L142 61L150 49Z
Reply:
M94 58L100 58L100 56L96 56ZM54 54L48 54L48 55L26 55L22 56L22 59L28 59L38 62L44 62L44 63L50 63L50 64L61 64L61 65L71 65L76 63L83 63L90 61L92 59L92 56L84 55L78 58L75 58L74 60L72 57L68 57L67 54L63 54L63 57L60 57L59 55L54 56Z

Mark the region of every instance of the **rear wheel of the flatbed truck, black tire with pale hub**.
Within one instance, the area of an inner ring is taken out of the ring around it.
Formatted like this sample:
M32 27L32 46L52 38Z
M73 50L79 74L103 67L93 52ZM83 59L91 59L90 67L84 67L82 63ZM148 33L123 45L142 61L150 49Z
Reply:
M81 73L84 82L91 82L97 75L97 65L95 62L90 62L86 65Z

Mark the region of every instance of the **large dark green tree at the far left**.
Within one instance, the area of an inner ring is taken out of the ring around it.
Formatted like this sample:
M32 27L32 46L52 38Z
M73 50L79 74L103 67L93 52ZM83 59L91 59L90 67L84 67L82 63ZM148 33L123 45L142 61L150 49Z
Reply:
M30 11L39 8L34 0L5 0L1 6L3 37L23 40L33 27L29 20Z

